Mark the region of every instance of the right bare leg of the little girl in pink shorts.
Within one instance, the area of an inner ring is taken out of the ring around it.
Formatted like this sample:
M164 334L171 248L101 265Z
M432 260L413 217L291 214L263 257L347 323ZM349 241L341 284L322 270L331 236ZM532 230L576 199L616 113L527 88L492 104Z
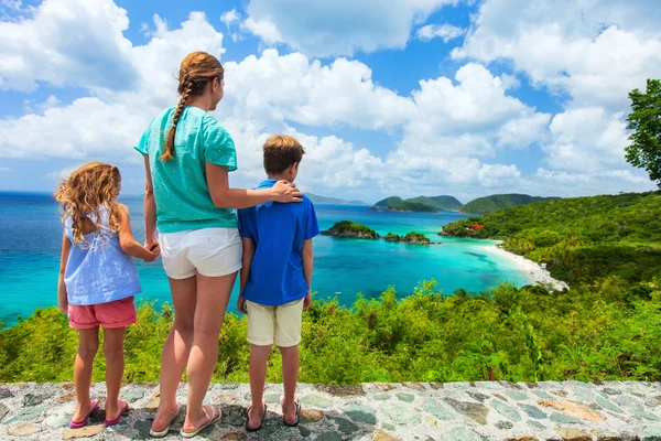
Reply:
M121 410L119 389L123 378L123 336L126 327L115 330L104 329L104 355L106 356L106 420L112 421Z

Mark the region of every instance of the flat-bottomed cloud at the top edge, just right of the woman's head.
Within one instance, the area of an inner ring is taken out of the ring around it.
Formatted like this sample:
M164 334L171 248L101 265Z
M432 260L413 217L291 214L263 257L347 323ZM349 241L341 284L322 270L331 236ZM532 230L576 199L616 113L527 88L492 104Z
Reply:
M313 56L402 49L414 24L457 0L250 0L245 25L268 44Z

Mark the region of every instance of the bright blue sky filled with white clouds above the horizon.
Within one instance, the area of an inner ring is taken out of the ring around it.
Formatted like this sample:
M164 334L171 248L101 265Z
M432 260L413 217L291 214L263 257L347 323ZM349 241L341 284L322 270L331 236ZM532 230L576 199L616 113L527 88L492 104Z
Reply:
M652 190L624 148L627 93L661 77L654 18L653 0L0 0L0 190L102 160L139 194L132 146L196 50L226 67L235 186L285 132L300 186L336 197Z

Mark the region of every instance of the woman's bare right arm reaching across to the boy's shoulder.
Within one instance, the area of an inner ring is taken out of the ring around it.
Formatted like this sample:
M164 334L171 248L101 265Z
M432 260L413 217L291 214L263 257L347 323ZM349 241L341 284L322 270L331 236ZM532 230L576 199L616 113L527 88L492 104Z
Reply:
M247 208L270 201L302 202L303 193L293 183L279 181L271 189L230 189L227 168L206 163L207 185L214 205L224 208Z

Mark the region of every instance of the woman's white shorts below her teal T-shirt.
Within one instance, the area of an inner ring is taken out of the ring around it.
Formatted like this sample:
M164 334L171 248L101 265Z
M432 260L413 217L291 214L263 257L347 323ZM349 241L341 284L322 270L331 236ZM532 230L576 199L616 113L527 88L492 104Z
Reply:
M203 228L162 233L161 257L172 279L188 279L197 273L221 277L241 269L243 248L237 228Z

